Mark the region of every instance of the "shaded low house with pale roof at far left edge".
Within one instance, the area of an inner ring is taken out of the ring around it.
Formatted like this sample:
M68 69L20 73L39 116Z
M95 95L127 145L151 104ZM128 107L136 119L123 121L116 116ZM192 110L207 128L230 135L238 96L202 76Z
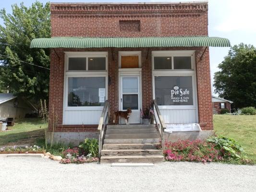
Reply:
M25 114L37 111L31 103L13 96L11 93L0 93L0 118L24 118Z

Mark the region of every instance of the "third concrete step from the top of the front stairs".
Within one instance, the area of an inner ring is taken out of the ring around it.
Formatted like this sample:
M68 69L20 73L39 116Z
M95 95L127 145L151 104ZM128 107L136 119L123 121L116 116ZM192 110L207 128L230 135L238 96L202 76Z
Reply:
M106 134L105 139L151 139L159 138L157 133Z

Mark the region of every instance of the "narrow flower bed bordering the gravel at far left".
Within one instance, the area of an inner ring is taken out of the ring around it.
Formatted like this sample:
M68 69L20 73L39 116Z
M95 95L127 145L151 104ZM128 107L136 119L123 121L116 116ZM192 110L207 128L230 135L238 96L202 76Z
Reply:
M27 153L42 153L45 154L46 150L42 149L40 146L25 146L25 147L1 147L0 154L27 154Z

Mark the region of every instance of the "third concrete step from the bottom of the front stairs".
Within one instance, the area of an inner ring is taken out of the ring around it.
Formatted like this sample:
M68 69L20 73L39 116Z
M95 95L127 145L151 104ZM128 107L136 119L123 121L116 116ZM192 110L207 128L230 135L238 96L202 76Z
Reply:
M103 150L110 149L158 149L160 143L155 144L103 144Z

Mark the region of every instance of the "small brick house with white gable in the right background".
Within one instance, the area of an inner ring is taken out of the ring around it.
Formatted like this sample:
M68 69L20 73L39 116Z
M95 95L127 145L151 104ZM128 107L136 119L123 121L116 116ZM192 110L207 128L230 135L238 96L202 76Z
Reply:
M217 96L212 97L213 114L221 114L221 109L228 109L231 112L231 104L233 101L219 98Z

